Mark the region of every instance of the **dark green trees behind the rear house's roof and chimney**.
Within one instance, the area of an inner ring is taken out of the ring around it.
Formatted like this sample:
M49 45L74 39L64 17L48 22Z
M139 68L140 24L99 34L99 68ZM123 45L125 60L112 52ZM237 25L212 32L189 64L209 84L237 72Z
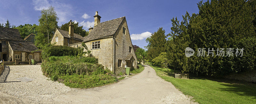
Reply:
M68 31L68 26L69 26L69 24L70 24L70 22L65 23L65 24L59 26L59 28L60 28L61 30ZM75 23L75 21L73 21L72 24L74 25L74 33L77 33L77 34L81 35L82 37L85 37L85 36L87 36L87 35L89 34L89 32L87 32L87 31L85 31L85 30L83 29L83 26L79 26L79 25L78 25L78 22Z

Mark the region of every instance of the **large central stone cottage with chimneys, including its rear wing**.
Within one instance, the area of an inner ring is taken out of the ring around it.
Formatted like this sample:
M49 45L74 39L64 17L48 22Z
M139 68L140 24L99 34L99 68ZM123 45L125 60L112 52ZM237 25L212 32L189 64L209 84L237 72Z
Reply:
M91 51L92 56L97 58L99 63L104 65L105 68L108 68L116 74L125 72L125 67L136 68L137 57L132 47L126 18L121 17L100 22L101 17L98 11L96 11L93 17L94 26L89 28L89 34L83 38L83 41L76 41L76 43L71 42L71 44L69 44L69 41L64 40L64 43L56 43L56 45L68 44L70 47L77 48L82 47L82 42L84 42ZM72 28L72 24L70 24L69 32L66 32L68 36L72 36L72 32L74 32L72 29L74 28ZM62 33L56 30L55 34ZM53 41L56 37L59 37L59 35L54 35Z

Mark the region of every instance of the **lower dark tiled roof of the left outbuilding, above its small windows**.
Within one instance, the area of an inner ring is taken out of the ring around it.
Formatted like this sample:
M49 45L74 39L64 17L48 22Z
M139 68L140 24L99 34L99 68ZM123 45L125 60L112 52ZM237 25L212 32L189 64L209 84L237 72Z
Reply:
M25 51L25 52L31 52L36 51L38 48L36 48L35 44L30 41L9 41L10 46L12 47L13 51ZM40 52L40 51L36 51Z

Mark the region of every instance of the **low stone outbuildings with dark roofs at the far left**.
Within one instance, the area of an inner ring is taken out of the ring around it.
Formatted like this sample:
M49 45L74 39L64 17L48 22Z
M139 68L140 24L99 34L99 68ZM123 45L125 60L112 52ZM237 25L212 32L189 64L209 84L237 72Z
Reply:
M41 52L33 42L24 41L18 29L0 27L0 60L42 62Z

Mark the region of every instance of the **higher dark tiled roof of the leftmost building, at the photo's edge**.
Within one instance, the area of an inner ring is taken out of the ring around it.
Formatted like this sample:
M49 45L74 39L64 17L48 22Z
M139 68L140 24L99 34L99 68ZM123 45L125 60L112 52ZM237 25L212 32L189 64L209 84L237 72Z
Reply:
M0 27L0 39L22 41L18 29Z

